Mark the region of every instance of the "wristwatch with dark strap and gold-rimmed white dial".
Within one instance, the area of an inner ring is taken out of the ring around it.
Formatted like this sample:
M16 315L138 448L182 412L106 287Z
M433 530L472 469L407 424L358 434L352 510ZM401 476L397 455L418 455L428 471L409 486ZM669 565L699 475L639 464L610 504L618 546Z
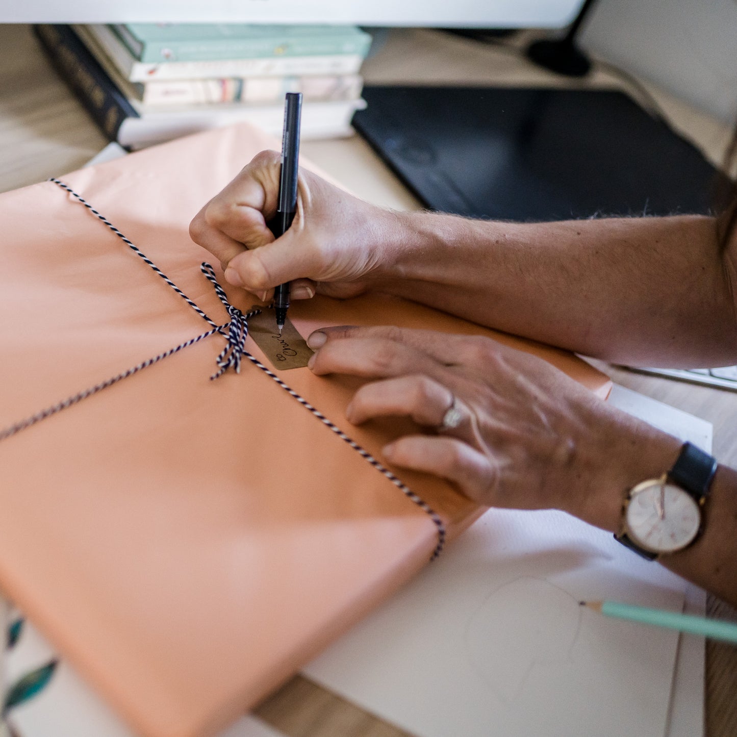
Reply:
M670 471L630 489L615 539L648 560L688 548L701 534L716 467L711 455L685 443Z

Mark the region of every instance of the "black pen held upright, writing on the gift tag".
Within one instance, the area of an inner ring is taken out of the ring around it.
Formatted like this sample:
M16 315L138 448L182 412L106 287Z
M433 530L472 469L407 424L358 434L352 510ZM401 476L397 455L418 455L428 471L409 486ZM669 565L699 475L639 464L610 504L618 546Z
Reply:
M284 235L297 212L297 172L299 162L299 121L302 112L301 92L287 92L284 102L284 133L282 135L282 171L279 174L279 201L276 217L269 223L275 238ZM289 309L289 282L274 290L276 326L282 335Z

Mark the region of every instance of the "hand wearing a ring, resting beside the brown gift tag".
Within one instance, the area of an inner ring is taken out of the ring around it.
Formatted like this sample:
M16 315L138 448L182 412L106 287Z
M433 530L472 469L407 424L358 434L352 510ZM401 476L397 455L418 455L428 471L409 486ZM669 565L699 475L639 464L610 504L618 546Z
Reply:
M446 478L483 505L562 509L615 530L626 490L668 468L680 447L490 338L339 327L307 343L315 374L371 380L346 408L349 422L408 416L426 428L386 446L389 463ZM452 405L461 421L439 431Z

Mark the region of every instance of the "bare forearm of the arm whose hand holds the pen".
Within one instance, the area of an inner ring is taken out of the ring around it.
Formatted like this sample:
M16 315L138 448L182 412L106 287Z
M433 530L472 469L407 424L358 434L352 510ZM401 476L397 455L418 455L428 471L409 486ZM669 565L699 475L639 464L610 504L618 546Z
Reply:
M607 360L737 361L733 273L712 218L398 217L380 282L391 293Z

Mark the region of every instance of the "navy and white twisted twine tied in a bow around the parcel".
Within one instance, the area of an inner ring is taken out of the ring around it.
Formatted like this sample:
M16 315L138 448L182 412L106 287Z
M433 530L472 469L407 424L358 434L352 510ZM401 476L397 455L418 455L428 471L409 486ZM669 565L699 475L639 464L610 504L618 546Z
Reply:
M357 444L357 442L347 436L346 433L343 433L343 430L340 430L340 427L338 427L338 425L335 425L333 422L327 419L327 417L324 416L321 411L313 407L310 402L307 402L307 399L304 399L304 397L301 397L299 394L297 394L297 392L294 391L293 388L285 384L276 374L273 373L273 371L264 366L261 361L259 361L255 356L251 355L248 351L245 350L245 339L248 337L248 319L253 317L254 315L259 314L260 310L251 310L250 312L246 312L244 315L243 312L241 312L237 307L234 307L232 304L230 304L230 302L228 301L228 297L223 290L223 287L221 287L220 284L218 284L217 282L214 269L208 263L203 262L203 264L200 265L200 270L202 271L206 279L208 279L209 282L212 284L215 292L217 293L217 296L220 298L220 301L223 302L223 305L226 307L228 315L231 318L228 324L217 325L214 321L212 321L211 318L208 317L208 315L206 315L205 312L203 312L203 310L200 310L200 307L198 307L195 302L193 302L188 296L186 296L186 294L174 282L172 282L172 280L163 271L161 271L161 269L158 268L158 266L150 258L148 258L148 256L146 256L133 242L128 240L128 238L126 238L125 235L123 235L118 230L118 228L113 226L113 224L106 217L97 212L97 210L94 209L94 207L91 206L90 203L83 200L80 195L77 195L77 192L74 192L71 187L67 186L62 181L59 181L55 178L51 178L49 181L52 181L54 184L57 184L57 186L65 189L66 192L69 192L69 194L74 197L79 203L83 204L89 210L89 212L94 214L94 216L97 217L98 220L102 220L102 223L105 223L105 225L108 226L108 228L110 228L110 230L113 231L113 233L116 234L116 236L119 237L120 240L125 243L125 245L128 245L128 248L130 248L130 250L133 251L136 256L139 256L140 259L142 259L153 271L155 271L158 276L161 277L161 279L164 279L164 282L166 282L182 299L184 299L184 301L189 304L189 307L192 307L192 310L195 310L195 312L197 312L198 315L203 318L203 320L207 321L210 326L212 326L212 329L208 330L207 332L203 332L196 338L190 338L184 343L180 343L178 346L170 348L168 351L160 353L153 358L144 360L142 361L142 363L133 366L133 368L129 368L128 371L123 371L122 374L117 374L116 376L105 380L97 385L94 385L91 388L85 389L85 391L80 391L78 394L74 394L74 396L64 399L63 402L52 405L51 407L48 407L41 412L35 413L34 415L27 417L20 422L16 422L14 425L10 425L10 427L6 427L4 430L0 430L0 441L10 438L16 433L21 432L21 430L25 430L27 427L31 427L31 425L35 425L37 422L41 422L41 420L46 419L47 417L52 416L57 412L65 410L72 405L76 405L77 402L81 402L83 399L91 397L93 394L97 394L99 391L108 388L108 386L112 386L113 384L116 384L123 379L127 379L129 376L133 376L133 374L137 374L139 371L142 371L148 366L153 366L154 363L158 363L159 361L164 360L164 358L168 358L169 356L178 353L185 348L189 348L189 346L193 346L195 343L199 343L200 340L204 340L205 338L209 338L215 333L219 333L220 335L223 335L224 338L226 338L227 342L225 348L223 348L223 350L217 357L217 371L212 374L210 379L214 380L222 376L228 370L228 368L233 368L234 371L240 373L240 364L242 358L247 358L249 361L251 361L254 366L260 368L268 377L270 377L270 379L279 384L279 386L282 387L284 391L287 391L287 393L290 394L291 397L294 397L294 399L296 399L304 408L307 408L315 417L320 420L320 422L323 423L323 425L328 427L329 430L332 430L332 432L335 433L335 435L337 435L341 440L349 444L349 446L352 447L353 450L355 450L362 458L368 461L368 463L371 464L371 466L373 466L375 469L377 469L377 471L388 478L388 480L391 481L394 486L397 486L397 489L399 489L399 491L401 491L409 500L411 500L411 502L416 504L416 506L419 506L419 508L422 509L422 511L424 511L430 517L430 520L432 520L433 524L436 526L438 536L438 542L436 544L435 550L433 551L431 559L436 559L436 557L439 556L445 544L445 524L440 515L435 510L433 510L432 507L430 507L430 505L424 499L422 499L422 497L416 495L415 492L413 492L412 489L410 489L401 479L397 478L394 473L392 473L380 461L374 458L371 453L368 453L368 450Z

